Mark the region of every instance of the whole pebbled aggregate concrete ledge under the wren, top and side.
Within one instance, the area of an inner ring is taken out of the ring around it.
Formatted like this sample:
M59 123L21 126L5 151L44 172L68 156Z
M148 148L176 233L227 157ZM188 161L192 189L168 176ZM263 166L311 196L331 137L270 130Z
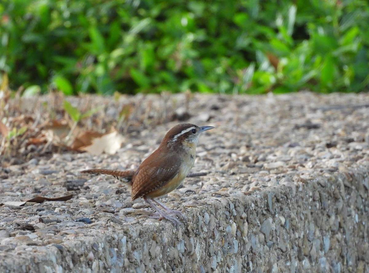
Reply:
M174 118L216 127L200 136L192 169L207 175L161 198L187 221L149 219L121 182L79 173L134 169L182 121L121 132L115 155L0 169L0 203L73 194L0 207L0 272L369 272L369 94L196 94L188 109L183 94L93 100L111 120L117 105L150 105L152 118L164 103Z

